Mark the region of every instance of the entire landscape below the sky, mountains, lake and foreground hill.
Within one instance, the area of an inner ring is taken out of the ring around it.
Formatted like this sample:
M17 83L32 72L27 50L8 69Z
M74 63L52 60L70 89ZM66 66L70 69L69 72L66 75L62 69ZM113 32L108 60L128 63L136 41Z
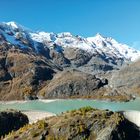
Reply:
M139 96L140 51L0 23L0 139L139 140Z

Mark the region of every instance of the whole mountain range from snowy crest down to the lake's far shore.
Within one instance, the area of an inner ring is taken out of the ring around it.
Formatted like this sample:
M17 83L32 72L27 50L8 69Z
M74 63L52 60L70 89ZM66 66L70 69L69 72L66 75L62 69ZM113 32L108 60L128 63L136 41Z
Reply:
M0 100L140 95L140 51L99 33L35 32L0 23Z

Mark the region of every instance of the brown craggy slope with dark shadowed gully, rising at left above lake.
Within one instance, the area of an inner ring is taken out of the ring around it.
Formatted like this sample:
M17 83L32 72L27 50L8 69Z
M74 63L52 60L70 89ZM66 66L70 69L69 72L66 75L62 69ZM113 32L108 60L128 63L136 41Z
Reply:
M0 58L0 100L33 99L59 67L46 58L9 49Z

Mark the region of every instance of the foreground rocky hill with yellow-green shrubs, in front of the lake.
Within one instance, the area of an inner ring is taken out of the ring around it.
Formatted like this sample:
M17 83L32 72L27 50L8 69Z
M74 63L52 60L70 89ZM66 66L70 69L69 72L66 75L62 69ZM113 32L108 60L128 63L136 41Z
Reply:
M24 131L22 131L24 130ZM90 107L70 111L24 127L5 138L132 140L139 139L138 128L121 114Z

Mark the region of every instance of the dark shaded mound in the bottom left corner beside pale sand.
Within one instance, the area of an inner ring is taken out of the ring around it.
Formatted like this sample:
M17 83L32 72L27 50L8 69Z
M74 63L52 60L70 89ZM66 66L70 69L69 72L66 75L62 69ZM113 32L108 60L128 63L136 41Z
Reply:
M12 110L0 112L0 137L18 130L28 122L27 116L21 112Z

